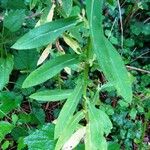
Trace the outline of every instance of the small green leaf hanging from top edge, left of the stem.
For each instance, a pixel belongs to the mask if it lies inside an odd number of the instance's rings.
[[[64,17],[69,17],[72,11],[72,0],[63,0],[59,2],[60,8],[59,11]]]

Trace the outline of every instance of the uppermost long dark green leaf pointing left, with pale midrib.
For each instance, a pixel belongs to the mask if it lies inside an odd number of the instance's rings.
[[[77,17],[70,17],[46,23],[26,33],[12,48],[33,49],[53,43],[63,32],[75,27],[78,22]]]

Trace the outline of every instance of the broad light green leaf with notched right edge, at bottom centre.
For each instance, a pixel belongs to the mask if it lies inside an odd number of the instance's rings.
[[[89,123],[86,127],[85,150],[107,150],[104,132],[110,132],[112,126],[107,115],[96,109],[93,104],[88,102]],[[103,116],[104,115],[104,116]],[[107,128],[106,128],[107,126]],[[109,127],[108,127],[109,126]]]

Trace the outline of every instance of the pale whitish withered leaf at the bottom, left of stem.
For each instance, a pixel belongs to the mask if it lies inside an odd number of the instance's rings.
[[[78,129],[71,137],[70,139],[64,144],[62,150],[72,150],[74,149],[81,141],[81,139],[84,137],[86,132],[86,128],[82,127]]]

